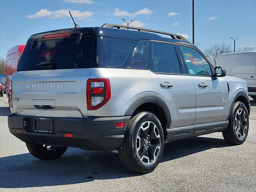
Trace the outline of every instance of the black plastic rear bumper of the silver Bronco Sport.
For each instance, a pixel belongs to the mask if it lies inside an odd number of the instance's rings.
[[[124,139],[124,132],[130,116],[106,118],[52,118],[52,133],[34,132],[35,116],[8,116],[10,133],[27,143],[48,144],[86,148],[90,150],[113,151]],[[26,126],[24,126],[24,121]],[[124,127],[116,128],[117,122],[124,122]],[[16,130],[22,130],[17,133]],[[72,138],[64,134],[72,134]]]

